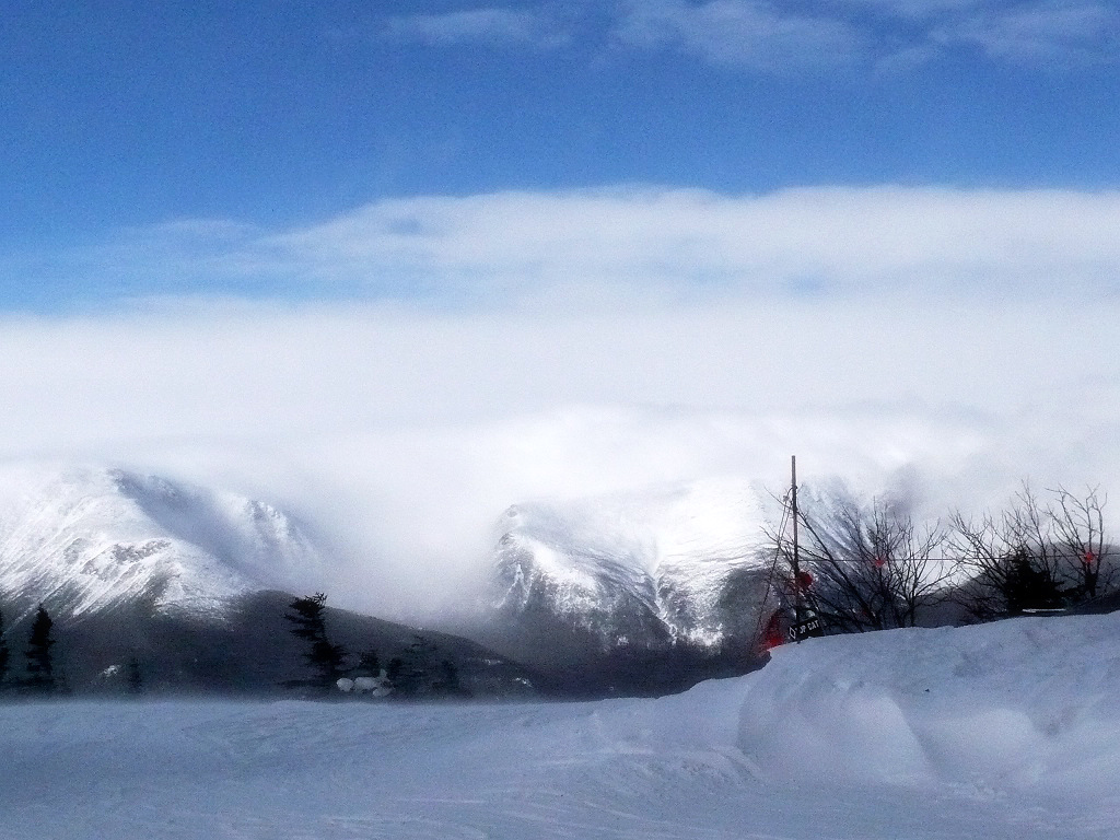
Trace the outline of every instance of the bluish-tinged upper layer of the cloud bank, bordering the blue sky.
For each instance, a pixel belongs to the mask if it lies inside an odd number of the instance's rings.
[[[0,270],[97,297],[433,307],[740,297],[1116,298],[1120,194],[907,187],[731,196],[615,188],[385,199],[319,224],[133,230]]]

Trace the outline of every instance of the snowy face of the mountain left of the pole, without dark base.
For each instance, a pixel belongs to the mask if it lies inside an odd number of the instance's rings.
[[[746,642],[766,571],[763,498],[726,479],[515,505],[495,548],[497,612],[522,636],[567,626],[603,652]]]

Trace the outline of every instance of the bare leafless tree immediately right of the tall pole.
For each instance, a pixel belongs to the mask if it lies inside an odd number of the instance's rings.
[[[940,557],[940,524],[920,526],[902,504],[862,503],[843,488],[803,498],[802,578],[785,576],[785,600],[800,597],[828,633],[914,626],[943,599],[951,569]],[[788,541],[771,539],[792,566]]]

